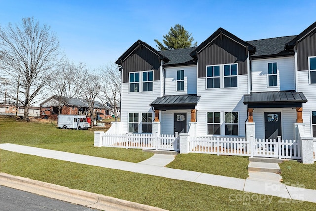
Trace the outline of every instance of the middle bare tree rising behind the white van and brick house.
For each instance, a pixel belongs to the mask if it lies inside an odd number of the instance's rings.
[[[78,96],[80,87],[77,85],[80,80],[81,63],[77,67],[63,57],[53,71],[53,78],[49,83],[51,93],[58,100],[58,114],[61,114],[62,101],[64,97],[73,98]]]

